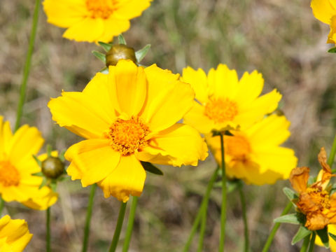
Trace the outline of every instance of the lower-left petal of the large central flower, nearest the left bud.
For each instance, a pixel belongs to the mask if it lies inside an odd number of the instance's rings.
[[[66,172],[72,179],[81,179],[83,186],[105,179],[120,160],[120,153],[113,151],[107,139],[80,141],[71,146],[64,156],[71,162]]]

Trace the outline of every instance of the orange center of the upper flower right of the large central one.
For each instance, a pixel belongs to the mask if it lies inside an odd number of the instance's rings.
[[[236,102],[230,99],[211,99],[205,105],[204,115],[214,120],[215,123],[223,123],[235,118],[238,114],[238,106]]]

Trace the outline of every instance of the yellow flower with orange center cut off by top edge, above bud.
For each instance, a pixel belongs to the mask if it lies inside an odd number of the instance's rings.
[[[67,28],[64,38],[110,42],[130,28],[151,0],[45,0],[48,22]]]

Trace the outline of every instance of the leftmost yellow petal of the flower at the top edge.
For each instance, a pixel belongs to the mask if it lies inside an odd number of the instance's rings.
[[[88,14],[83,0],[45,0],[43,8],[48,22],[64,28],[82,21]]]

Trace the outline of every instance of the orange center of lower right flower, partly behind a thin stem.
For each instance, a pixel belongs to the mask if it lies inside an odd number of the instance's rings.
[[[225,154],[230,155],[232,160],[246,161],[251,153],[251,146],[243,136],[225,136]]]

